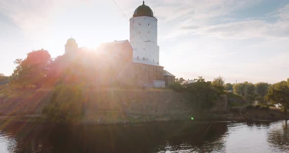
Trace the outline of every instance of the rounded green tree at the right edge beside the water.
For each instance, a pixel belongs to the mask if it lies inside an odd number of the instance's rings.
[[[268,102],[278,104],[284,113],[289,110],[289,80],[281,81],[271,85],[268,94],[265,96]],[[287,119],[286,119],[287,121]]]

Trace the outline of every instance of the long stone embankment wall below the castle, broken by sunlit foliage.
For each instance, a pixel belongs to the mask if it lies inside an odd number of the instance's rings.
[[[18,98],[0,98],[0,114],[41,114],[48,104],[52,90],[42,90]],[[184,93],[160,89],[84,89],[83,101],[88,113],[120,111],[140,115],[182,115],[192,113]],[[226,111],[226,97],[216,101],[210,111]]]

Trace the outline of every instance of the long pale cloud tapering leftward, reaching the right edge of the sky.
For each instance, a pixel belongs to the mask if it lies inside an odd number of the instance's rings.
[[[262,20],[249,20],[201,27],[192,29],[191,32],[221,39],[275,39],[288,38],[289,29],[287,27],[289,27],[288,21],[270,24]]]

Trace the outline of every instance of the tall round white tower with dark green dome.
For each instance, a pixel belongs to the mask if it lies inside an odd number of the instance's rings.
[[[134,62],[159,65],[158,20],[145,1],[134,11],[129,22]]]

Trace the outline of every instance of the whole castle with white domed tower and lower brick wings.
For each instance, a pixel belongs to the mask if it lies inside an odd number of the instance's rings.
[[[126,61],[121,65],[114,64],[110,69],[117,69],[118,79],[109,82],[118,82],[128,86],[147,86],[147,87],[165,87],[175,81],[175,76],[164,70],[160,65],[159,46],[157,44],[157,18],[149,6],[145,5],[145,1],[140,5],[133,14],[130,21],[130,42],[128,40],[114,41],[101,44],[96,51],[101,52],[102,57],[116,59],[112,61]],[[67,40],[65,45],[65,54],[76,54],[76,51],[84,51],[86,49],[78,48],[73,38]],[[103,56],[105,55],[105,56]],[[102,57],[96,57],[101,59]],[[104,60],[106,64],[111,64],[109,60]],[[105,65],[99,64],[98,65]],[[100,69],[99,69],[100,70]],[[107,70],[103,72],[113,74]],[[104,73],[101,73],[104,74]],[[117,75],[117,74],[115,74]],[[99,78],[97,82],[112,76]],[[113,79],[111,79],[113,80]]]

